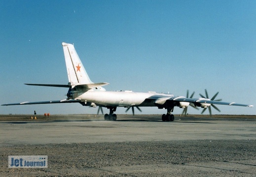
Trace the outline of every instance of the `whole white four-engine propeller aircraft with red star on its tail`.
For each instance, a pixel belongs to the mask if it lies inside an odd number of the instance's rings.
[[[110,114],[105,114],[105,120],[116,120],[117,107],[132,108],[134,113],[134,107],[157,107],[158,109],[166,109],[167,114],[162,115],[163,121],[173,121],[174,115],[172,114],[174,107],[184,108],[183,113],[186,113],[186,109],[189,105],[193,107],[204,108],[203,112],[209,108],[211,114],[211,106],[216,109],[214,104],[229,105],[229,106],[244,106],[253,107],[253,105],[238,104],[234,102],[220,102],[215,100],[217,94],[212,98],[201,95],[201,98],[192,98],[193,94],[187,96],[174,96],[173,94],[156,93],[156,92],[133,92],[133,91],[106,91],[102,86],[108,85],[108,83],[93,83],[85,68],[79,59],[74,46],[72,44],[62,43],[64,56],[67,66],[69,83],[68,85],[55,85],[55,84],[26,84],[30,86],[46,86],[46,87],[64,87],[69,88],[67,93],[67,99],[57,101],[40,101],[40,102],[22,102],[3,104],[1,106],[9,105],[29,105],[29,104],[52,104],[52,103],[80,103],[83,106],[97,107],[100,109],[106,107],[110,110]],[[128,110],[127,109],[127,110]],[[140,110],[140,109],[139,109]],[[219,111],[219,109],[217,108]],[[140,110],[141,111],[141,110]]]

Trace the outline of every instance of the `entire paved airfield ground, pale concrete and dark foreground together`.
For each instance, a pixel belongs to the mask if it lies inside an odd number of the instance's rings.
[[[162,122],[160,115],[118,115],[117,121],[81,115],[24,117],[0,121],[0,176],[256,174],[256,118],[176,116]],[[48,155],[47,169],[7,168],[8,155],[36,154]],[[67,158],[71,160],[65,162]]]

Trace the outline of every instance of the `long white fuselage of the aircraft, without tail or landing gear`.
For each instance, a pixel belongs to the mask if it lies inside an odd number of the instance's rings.
[[[173,96],[173,94],[155,92],[132,91],[94,91],[89,90],[76,99],[92,102],[100,106],[130,107],[130,106],[155,106],[154,102],[145,101],[153,95]]]

